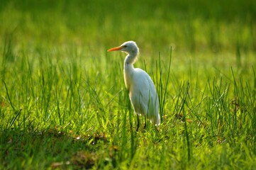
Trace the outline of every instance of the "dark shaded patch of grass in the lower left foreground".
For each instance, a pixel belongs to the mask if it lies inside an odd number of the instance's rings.
[[[104,134],[78,136],[57,128],[41,132],[6,130],[1,134],[0,161],[8,169],[113,167],[118,147],[106,147],[107,143]]]

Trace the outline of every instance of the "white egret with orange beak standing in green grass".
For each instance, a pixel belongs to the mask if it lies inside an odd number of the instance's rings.
[[[143,69],[133,67],[139,54],[139,48],[136,42],[124,42],[121,46],[109,49],[108,52],[116,50],[128,54],[124,60],[123,77],[126,89],[129,91],[130,101],[137,115],[137,131],[140,126],[138,115],[144,115],[145,118],[148,118],[150,122],[158,128],[160,125],[160,115],[155,85],[150,76]]]

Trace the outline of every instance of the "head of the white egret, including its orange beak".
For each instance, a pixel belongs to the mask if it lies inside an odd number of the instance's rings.
[[[138,55],[138,52],[139,52],[139,48],[136,45],[136,42],[134,42],[134,41],[123,42],[122,45],[120,45],[118,47],[113,47],[113,48],[109,49],[108,51],[116,51],[116,50],[120,50],[121,52],[126,52],[130,55],[131,54]]]

